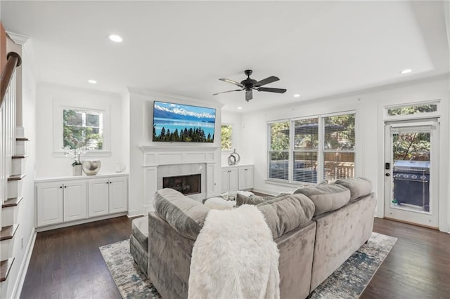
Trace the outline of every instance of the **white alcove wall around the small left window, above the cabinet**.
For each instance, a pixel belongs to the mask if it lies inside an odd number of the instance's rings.
[[[117,163],[127,164],[127,161],[124,161],[124,145],[127,145],[124,128],[127,128],[128,125],[124,122],[120,95],[42,83],[37,89],[37,178],[72,175],[72,160],[64,157],[61,152],[54,152],[53,148],[55,117],[53,106],[56,102],[70,107],[109,110],[110,153],[103,155],[88,153],[82,157],[82,160],[99,159],[101,161],[100,173],[115,172]],[[59,150],[59,147],[56,148]]]

